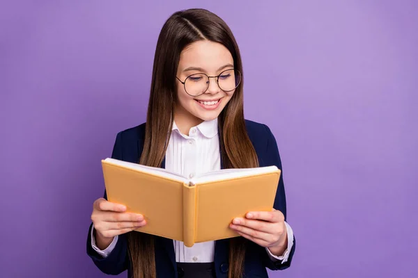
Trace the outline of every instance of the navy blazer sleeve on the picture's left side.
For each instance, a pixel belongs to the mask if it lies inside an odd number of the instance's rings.
[[[111,154],[111,158],[123,160],[122,157],[122,133],[118,133],[116,136],[116,141],[114,143],[114,148]],[[106,190],[104,190],[104,199],[107,199]],[[118,236],[118,241],[114,250],[110,252],[110,254],[103,258],[95,252],[93,247],[91,246],[91,229],[93,227],[93,223],[90,225],[88,229],[88,236],[87,236],[87,254],[93,260],[93,263],[105,274],[107,275],[118,275],[121,272],[127,270],[128,260],[129,257],[127,255],[127,238],[126,234],[122,234]]]

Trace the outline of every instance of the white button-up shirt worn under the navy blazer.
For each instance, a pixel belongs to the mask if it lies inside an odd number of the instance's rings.
[[[184,135],[173,123],[173,129],[167,146],[165,168],[171,172],[182,174],[192,178],[221,168],[221,157],[219,152],[219,138],[217,136],[217,119],[202,122],[189,130],[189,136]],[[272,261],[281,260],[285,263],[288,260],[289,252],[293,247],[293,231],[285,222],[288,234],[288,248],[282,256],[274,256],[266,248],[266,252]],[[105,250],[100,250],[95,245],[93,229],[91,229],[91,244],[93,249],[103,257],[114,250],[118,236],[115,236],[112,243]],[[210,263],[214,261],[215,241],[195,243],[192,247],[186,247],[183,242],[173,240],[176,262],[178,263]]]

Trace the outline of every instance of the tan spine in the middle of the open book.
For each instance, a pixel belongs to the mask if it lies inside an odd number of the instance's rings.
[[[196,219],[196,186],[183,186],[183,243],[187,247],[194,245]]]

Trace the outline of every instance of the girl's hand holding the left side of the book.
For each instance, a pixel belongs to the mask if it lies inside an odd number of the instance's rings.
[[[100,249],[105,249],[115,236],[144,227],[143,215],[125,213],[126,206],[107,201],[104,198],[95,200],[91,220],[96,232],[96,241]],[[99,246],[102,245],[102,246]],[[104,247],[104,248],[102,248]]]

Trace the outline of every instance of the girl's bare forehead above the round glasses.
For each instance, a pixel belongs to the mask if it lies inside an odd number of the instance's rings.
[[[183,49],[178,67],[179,70],[186,67],[201,67],[210,72],[228,63],[233,65],[233,58],[226,47],[218,42],[199,40]]]

